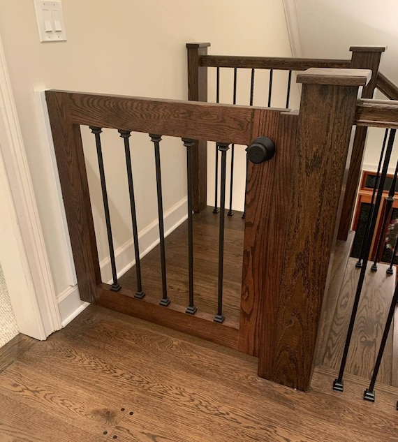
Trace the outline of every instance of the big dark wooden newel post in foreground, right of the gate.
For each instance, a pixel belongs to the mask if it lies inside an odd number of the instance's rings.
[[[370,75],[326,68],[297,75],[302,98],[285,251],[274,294],[279,307],[263,309],[258,375],[299,390],[308,390],[311,381],[356,101]]]

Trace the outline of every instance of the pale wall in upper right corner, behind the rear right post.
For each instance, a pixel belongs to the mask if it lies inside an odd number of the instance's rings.
[[[350,46],[387,45],[381,72],[398,84],[396,0],[297,0],[303,57],[351,57]],[[384,98],[380,95],[379,98]],[[383,130],[369,130],[364,168],[377,167]],[[394,170],[398,147],[391,161]]]

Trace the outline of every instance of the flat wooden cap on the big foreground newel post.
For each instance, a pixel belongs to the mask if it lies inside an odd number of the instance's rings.
[[[370,79],[369,69],[309,68],[297,75],[297,83],[334,86],[366,86]]]

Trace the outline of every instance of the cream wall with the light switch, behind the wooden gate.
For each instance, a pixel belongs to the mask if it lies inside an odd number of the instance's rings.
[[[6,52],[24,145],[50,258],[61,318],[80,304],[68,255],[57,179],[43,136],[34,89],[68,89],[110,94],[186,99],[186,48],[189,41],[209,41],[216,54],[291,55],[282,0],[64,0],[68,40],[40,43],[32,0],[0,2],[0,35]],[[255,102],[255,104],[258,104]],[[274,104],[274,103],[273,103]],[[278,105],[275,103],[275,105]],[[107,256],[101,226],[94,143],[84,131],[87,172],[101,260]],[[140,230],[156,219],[153,150],[145,135],[131,140]],[[131,238],[121,140],[105,133],[110,206],[115,246]],[[111,150],[112,149],[112,152]],[[185,196],[184,150],[165,140],[165,209]],[[94,190],[95,189],[95,190]],[[175,219],[170,217],[170,223]],[[153,223],[152,223],[153,226]],[[66,297],[72,304],[63,307]]]

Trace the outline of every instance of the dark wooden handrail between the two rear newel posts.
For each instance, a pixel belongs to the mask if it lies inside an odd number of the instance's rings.
[[[200,66],[219,68],[279,69],[305,71],[308,68],[349,68],[350,60],[295,59],[284,57],[239,57],[228,55],[205,55]]]

